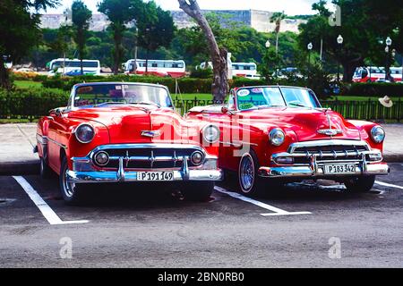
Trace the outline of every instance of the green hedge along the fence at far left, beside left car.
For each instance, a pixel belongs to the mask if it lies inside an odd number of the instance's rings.
[[[65,106],[69,93],[46,88],[21,88],[12,91],[0,89],[0,118],[33,120],[49,110]]]

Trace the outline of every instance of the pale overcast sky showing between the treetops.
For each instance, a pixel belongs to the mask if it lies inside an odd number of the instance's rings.
[[[83,0],[94,13],[97,12],[99,0]],[[155,0],[165,10],[179,10],[176,0]],[[270,12],[285,11],[288,15],[311,14],[312,4],[317,0],[198,0],[201,9],[211,10],[266,10]],[[73,0],[61,0],[62,5],[57,9],[47,10],[47,13],[63,13],[65,7],[72,5]]]

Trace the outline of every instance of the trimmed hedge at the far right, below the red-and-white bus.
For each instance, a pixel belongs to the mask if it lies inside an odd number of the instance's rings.
[[[402,83],[368,82],[353,83],[343,88],[343,96],[361,97],[402,97]]]

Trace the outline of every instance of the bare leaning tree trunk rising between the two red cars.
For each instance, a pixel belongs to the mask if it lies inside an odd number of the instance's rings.
[[[228,72],[227,72],[227,50],[219,48],[217,40],[210,28],[209,22],[201,13],[201,9],[196,0],[178,0],[179,6],[184,13],[192,17],[201,27],[209,44],[210,57],[213,63],[213,101],[217,104],[223,103],[227,97],[228,91]]]

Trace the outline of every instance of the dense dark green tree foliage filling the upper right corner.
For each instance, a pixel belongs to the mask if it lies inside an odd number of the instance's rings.
[[[330,11],[326,8],[326,1],[321,0],[313,4],[318,14],[300,26],[299,46],[304,51],[306,45],[312,42],[313,48],[318,51],[322,39],[326,56],[343,66],[344,80],[350,81],[356,66],[368,63],[370,58],[372,64],[384,65],[384,39],[387,36],[395,39],[393,46],[402,50],[403,12],[399,2],[333,0],[332,3],[340,6],[341,26],[330,27]],[[344,38],[342,46],[337,42],[339,35]]]

